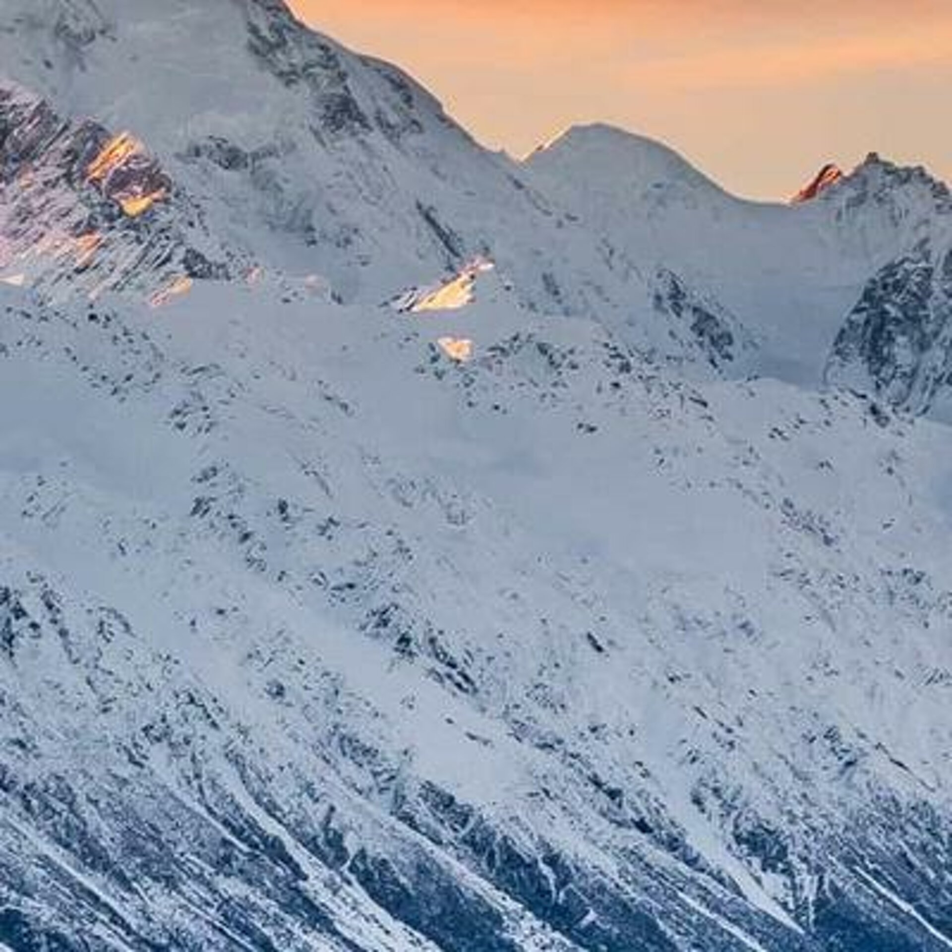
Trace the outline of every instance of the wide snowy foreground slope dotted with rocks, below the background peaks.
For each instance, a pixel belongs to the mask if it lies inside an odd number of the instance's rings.
[[[4,294],[14,947],[942,947],[865,879],[948,933],[942,426],[499,306]]]

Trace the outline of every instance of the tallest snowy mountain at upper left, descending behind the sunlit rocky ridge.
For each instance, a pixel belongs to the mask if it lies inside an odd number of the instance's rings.
[[[424,89],[303,30],[281,2],[5,0],[4,15],[4,71],[66,116],[143,139],[262,267],[377,303],[483,255],[536,307],[585,311],[602,285],[645,298]]]

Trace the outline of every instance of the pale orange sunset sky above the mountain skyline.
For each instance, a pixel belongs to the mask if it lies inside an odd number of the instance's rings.
[[[952,0],[292,0],[486,145],[601,120],[786,197],[876,149],[952,181]]]

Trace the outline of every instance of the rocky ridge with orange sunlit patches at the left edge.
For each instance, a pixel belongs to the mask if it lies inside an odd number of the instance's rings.
[[[201,212],[128,132],[70,123],[27,90],[0,85],[0,169],[8,283],[96,297],[229,276]]]

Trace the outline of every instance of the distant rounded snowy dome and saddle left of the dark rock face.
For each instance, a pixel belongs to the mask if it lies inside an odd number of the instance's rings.
[[[678,270],[733,313],[758,345],[738,370],[808,386],[823,379],[867,284],[923,241],[941,246],[952,228],[948,188],[875,154],[792,207],[739,200],[670,149],[603,126],[570,130],[537,151],[527,172],[611,248],[642,268]],[[941,311],[930,314],[946,323]],[[903,319],[919,327],[922,313]],[[857,369],[868,371],[878,396],[905,399],[875,367]]]

